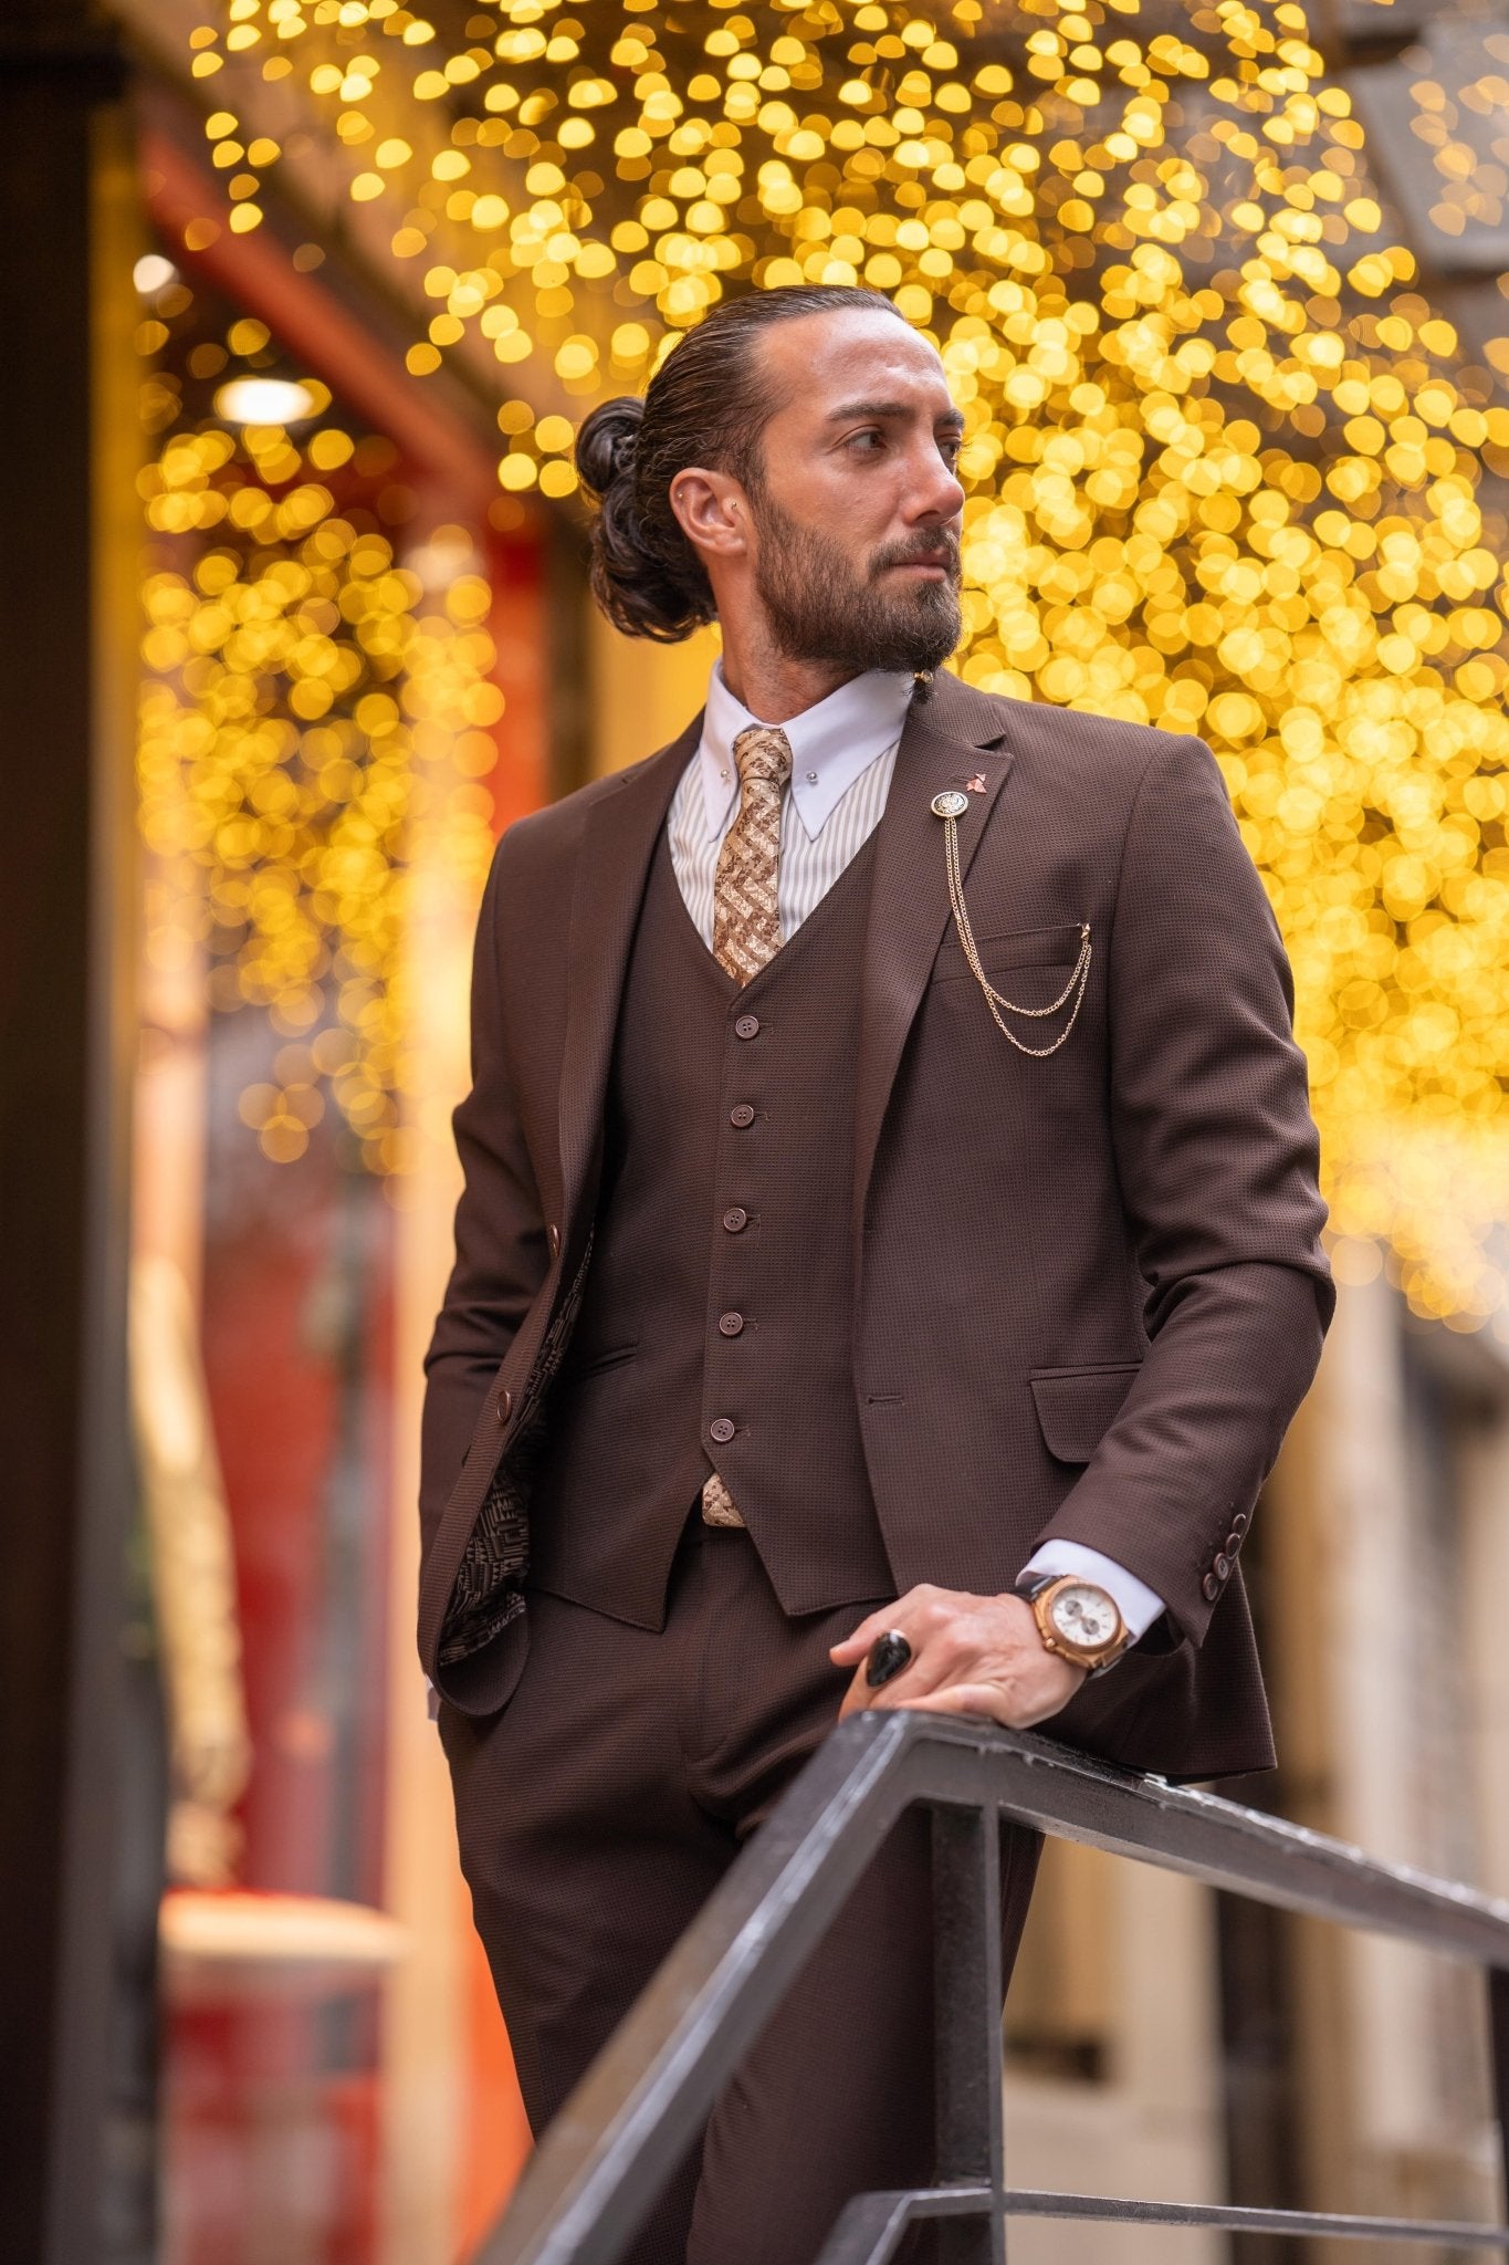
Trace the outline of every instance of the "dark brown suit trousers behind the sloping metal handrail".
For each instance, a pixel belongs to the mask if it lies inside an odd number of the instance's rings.
[[[828,1644],[857,1613],[787,1617],[749,1536],[692,1518],[663,1631],[534,1592],[527,1617],[514,1703],[491,1719],[441,1708],[441,1737],[477,1930],[541,2131],[833,1724],[846,1676]],[[1007,1971],[1036,1857],[1034,1832],[1002,1835]],[[930,1946],[928,1817],[914,1810],[744,2057],[627,2265],[803,2265],[851,2193],[932,2183]]]

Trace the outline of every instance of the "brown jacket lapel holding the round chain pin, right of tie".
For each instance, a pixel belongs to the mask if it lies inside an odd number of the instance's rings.
[[[939,675],[928,700],[914,700],[896,750],[891,793],[876,831],[864,972],[860,985],[860,1062],[855,1076],[855,1277],[864,1246],[864,1203],[880,1126],[896,1083],[912,1017],[932,974],[950,920],[943,865],[943,820],[930,804],[946,786],[968,788],[959,818],[959,865],[968,874],[1011,754],[993,745],[1007,725],[1004,702]]]

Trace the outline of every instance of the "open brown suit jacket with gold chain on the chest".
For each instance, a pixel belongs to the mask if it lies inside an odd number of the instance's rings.
[[[509,829],[473,988],[466,1189],[428,1354],[421,1656],[491,1712],[527,1617],[457,1665],[441,1635],[493,1472],[550,1422],[638,904],[699,738]],[[995,1031],[952,931],[930,802],[959,820],[991,981],[1090,978],[1047,1060]],[[1271,1760],[1238,1554],[1330,1318],[1290,969],[1195,738],[977,693],[912,704],[880,822],[853,1117],[853,1388],[898,1590],[995,1592],[1050,1538],[1167,1604],[1054,1730],[1170,1776]],[[1018,1022],[1027,1044],[1063,1017]],[[844,1137],[844,1128],[837,1128]],[[552,1330],[554,1323],[554,1330]]]

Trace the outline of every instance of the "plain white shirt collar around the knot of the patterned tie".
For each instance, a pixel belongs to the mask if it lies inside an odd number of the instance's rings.
[[[808,840],[817,840],[855,779],[900,738],[912,682],[909,673],[871,668],[781,725],[792,745],[792,802]],[[724,684],[724,664],[715,661],[697,750],[708,840],[724,834],[738,802],[733,741],[758,720],[733,698]]]

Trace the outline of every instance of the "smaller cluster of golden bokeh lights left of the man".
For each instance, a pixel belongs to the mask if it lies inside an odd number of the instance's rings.
[[[267,340],[238,331],[242,351]],[[423,1114],[405,1044],[409,843],[423,824],[473,892],[491,854],[491,589],[459,573],[428,596],[387,535],[335,507],[319,473],[353,455],[335,421],[299,444],[281,426],[183,428],[158,371],[149,421],[163,401],[172,424],[140,489],[152,532],[192,544],[192,564],[158,559],[143,587],[147,951],[179,954],[197,929],[210,1006],[260,1008],[283,1037],[276,1080],[240,1103],[265,1155],[303,1155],[330,1094],[355,1157],[398,1173]]]

